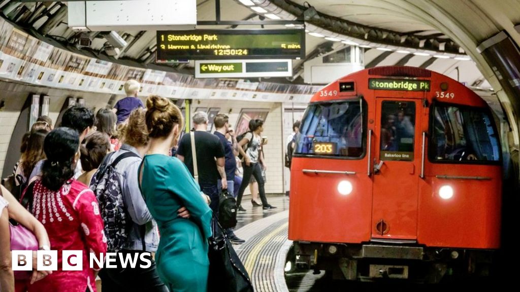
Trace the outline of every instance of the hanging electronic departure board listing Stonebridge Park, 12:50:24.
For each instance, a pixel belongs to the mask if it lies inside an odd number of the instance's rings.
[[[299,59],[303,29],[158,31],[157,61],[190,59]]]

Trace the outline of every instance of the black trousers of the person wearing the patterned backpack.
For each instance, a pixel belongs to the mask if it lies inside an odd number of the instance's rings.
[[[101,290],[103,292],[168,292],[168,288],[159,278],[157,269],[155,268],[155,261],[150,258],[152,265],[149,268],[142,269],[139,266],[141,264],[146,265],[147,262],[142,262],[139,255],[144,251],[140,250],[122,250],[119,253],[123,254],[123,258],[127,254],[137,254],[137,264],[135,269],[126,266],[126,269],[121,267],[121,262],[116,261],[117,268],[114,269],[102,269],[99,272],[101,278]],[[118,255],[119,259],[119,255]]]

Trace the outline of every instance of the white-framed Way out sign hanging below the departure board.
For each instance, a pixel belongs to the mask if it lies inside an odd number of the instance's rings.
[[[196,78],[290,76],[292,76],[292,60],[195,61]]]

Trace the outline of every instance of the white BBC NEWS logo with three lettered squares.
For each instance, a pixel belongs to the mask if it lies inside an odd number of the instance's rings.
[[[12,270],[13,271],[32,271],[33,257],[32,250],[12,250]],[[62,270],[63,271],[82,271],[83,270],[83,250],[63,250],[61,253]],[[114,269],[117,268],[117,262],[123,269],[137,267],[140,260],[139,268],[147,269],[152,266],[151,253],[106,253],[97,256],[89,253],[90,269]],[[57,271],[58,270],[58,251],[57,250],[38,250],[36,252],[36,270],[38,271]]]

